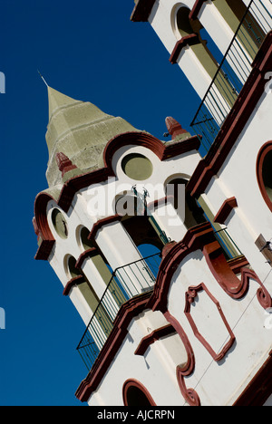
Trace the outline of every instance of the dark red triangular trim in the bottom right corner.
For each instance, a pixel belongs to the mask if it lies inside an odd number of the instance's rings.
[[[272,394],[272,351],[233,406],[263,406]]]

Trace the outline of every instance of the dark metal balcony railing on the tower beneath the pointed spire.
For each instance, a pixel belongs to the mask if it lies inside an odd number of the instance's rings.
[[[151,255],[121,266],[112,273],[111,281],[77,346],[89,371],[112,332],[121,305],[135,295],[153,290],[160,261],[160,254]]]

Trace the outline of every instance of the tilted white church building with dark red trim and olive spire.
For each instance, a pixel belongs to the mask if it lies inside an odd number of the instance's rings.
[[[158,140],[48,87],[35,259],[86,325],[75,396],[272,406],[271,0],[136,0],[131,21],[199,104]]]

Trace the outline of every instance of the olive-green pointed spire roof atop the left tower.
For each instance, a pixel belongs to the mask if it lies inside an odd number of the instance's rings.
[[[47,90],[49,123],[45,139],[49,187],[63,183],[72,173],[102,168],[102,153],[108,141],[123,132],[136,131],[126,120],[104,113],[89,101],[74,100],[49,86]]]

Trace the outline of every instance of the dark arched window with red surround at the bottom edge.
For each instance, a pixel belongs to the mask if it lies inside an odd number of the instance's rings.
[[[140,381],[128,380],[122,388],[124,406],[157,406]]]

